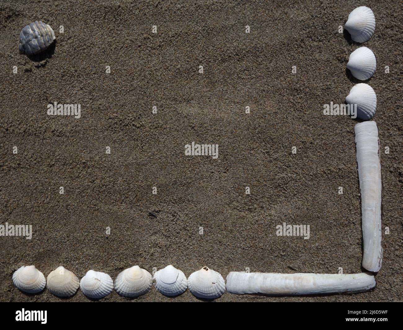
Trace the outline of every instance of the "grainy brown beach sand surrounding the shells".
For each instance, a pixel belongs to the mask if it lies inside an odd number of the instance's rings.
[[[89,301],[81,291],[69,299],[20,292],[12,273],[31,264],[45,276],[63,265],[80,278],[89,269],[115,278],[135,264],[173,264],[187,276],[209,266],[224,278],[245,267],[361,272],[358,121],[322,114],[360,82],[346,73],[360,45],[337,30],[361,5],[376,16],[363,46],[378,62],[368,83],[378,97],[382,226],[390,228],[377,287],[314,297],[224,293],[216,301],[403,300],[401,1],[6,0],[0,224],[31,224],[33,237],[0,237],[0,301]],[[18,52],[21,28],[35,20],[57,38],[39,61]],[[81,104],[81,118],[48,116],[53,102]],[[192,141],[219,144],[219,158],[185,156]],[[283,222],[309,224],[310,239],[277,237]],[[128,299],[114,291],[102,301]],[[152,288],[133,301],[199,300]]]

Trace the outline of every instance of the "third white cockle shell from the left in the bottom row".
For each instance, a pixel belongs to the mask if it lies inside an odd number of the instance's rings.
[[[89,270],[80,281],[80,288],[89,298],[102,298],[113,291],[113,281],[108,274]]]

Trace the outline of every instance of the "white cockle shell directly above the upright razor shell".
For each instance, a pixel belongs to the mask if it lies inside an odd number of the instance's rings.
[[[371,119],[376,111],[376,93],[370,85],[359,83],[350,89],[346,103],[357,105],[358,118]]]

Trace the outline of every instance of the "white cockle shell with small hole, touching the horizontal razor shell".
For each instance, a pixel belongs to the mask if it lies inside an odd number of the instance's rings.
[[[208,267],[190,274],[187,284],[190,292],[198,298],[218,298],[225,292],[224,278]]]

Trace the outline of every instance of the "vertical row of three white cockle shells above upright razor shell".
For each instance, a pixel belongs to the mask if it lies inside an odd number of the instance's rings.
[[[366,42],[374,34],[375,15],[368,7],[355,8],[350,12],[344,27],[353,41]],[[367,47],[357,48],[350,54],[347,68],[359,80],[370,79],[376,70],[376,57]],[[370,85],[359,83],[351,88],[346,104],[357,104],[357,118],[371,119],[376,111],[376,93]]]

